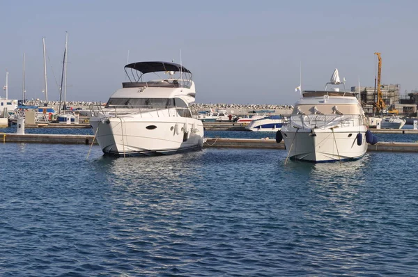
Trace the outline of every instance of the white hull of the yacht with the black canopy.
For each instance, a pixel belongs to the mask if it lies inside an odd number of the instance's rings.
[[[203,146],[203,124],[194,118],[93,117],[91,126],[109,155],[169,155]]]

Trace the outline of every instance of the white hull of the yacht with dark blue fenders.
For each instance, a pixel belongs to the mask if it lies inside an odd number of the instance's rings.
[[[304,161],[339,161],[359,159],[367,150],[366,126],[332,129],[281,129],[288,157]],[[362,134],[362,144],[357,145],[357,134]]]

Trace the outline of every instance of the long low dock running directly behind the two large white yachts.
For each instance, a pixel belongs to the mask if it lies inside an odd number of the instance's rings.
[[[405,130],[417,131],[417,130]],[[0,133],[0,142],[3,143],[61,143],[84,144],[93,143],[93,135],[72,134],[9,134]],[[97,141],[94,141],[98,145]],[[225,139],[208,138],[203,148],[258,148],[284,150],[284,143],[276,143],[275,139]],[[392,152],[418,152],[418,143],[404,142],[379,142],[369,145],[367,151],[392,151]]]

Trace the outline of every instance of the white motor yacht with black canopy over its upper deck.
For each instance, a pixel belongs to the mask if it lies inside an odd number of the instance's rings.
[[[196,95],[192,72],[160,61],[130,63],[125,72],[130,81],[107,105],[91,106],[91,126],[104,154],[168,155],[203,146],[203,123],[189,109]],[[148,73],[168,77],[146,81]]]

